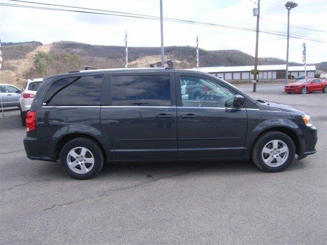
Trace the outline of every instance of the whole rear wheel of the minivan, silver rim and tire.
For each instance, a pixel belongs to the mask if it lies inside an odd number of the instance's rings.
[[[69,176],[85,180],[100,172],[104,158],[96,142],[87,138],[76,138],[63,146],[60,161]]]

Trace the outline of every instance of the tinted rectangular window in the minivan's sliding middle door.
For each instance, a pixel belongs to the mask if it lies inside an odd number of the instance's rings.
[[[170,106],[170,76],[112,77],[113,106]]]

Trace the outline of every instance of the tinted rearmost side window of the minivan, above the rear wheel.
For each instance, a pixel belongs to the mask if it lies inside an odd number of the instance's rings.
[[[49,106],[100,106],[102,77],[60,79],[51,85],[43,103]]]

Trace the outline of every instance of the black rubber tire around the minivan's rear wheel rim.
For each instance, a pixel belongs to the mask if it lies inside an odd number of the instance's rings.
[[[67,163],[68,153],[74,148],[78,148],[78,147],[83,147],[88,149],[94,156],[94,166],[85,174],[75,173],[75,171],[69,168]],[[86,179],[93,178],[97,174],[99,174],[103,166],[104,157],[100,146],[96,142],[87,138],[76,138],[76,139],[72,139],[71,141],[69,141],[63,146],[60,152],[60,161],[61,161],[61,166],[69,176],[73,177],[74,179],[86,180]]]

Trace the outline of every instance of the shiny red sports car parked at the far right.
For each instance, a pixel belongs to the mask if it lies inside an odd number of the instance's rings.
[[[327,81],[319,78],[302,79],[296,83],[290,83],[284,87],[286,93],[312,93],[315,91],[327,92]]]

